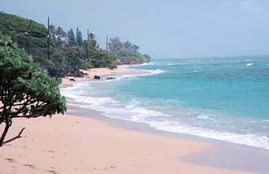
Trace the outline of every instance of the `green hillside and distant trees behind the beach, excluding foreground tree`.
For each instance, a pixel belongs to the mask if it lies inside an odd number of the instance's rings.
[[[121,64],[139,64],[150,61],[150,56],[138,52],[139,47],[130,41],[121,42],[119,37],[110,39],[109,50],[102,50],[96,36],[90,33],[83,40],[77,28],[65,32],[50,25],[50,52],[48,58],[48,33],[45,25],[12,14],[0,12],[0,32],[12,38],[21,48],[32,55],[34,63],[46,69],[50,76],[59,70],[89,69],[92,67],[117,68]],[[60,71],[61,72],[61,71]]]

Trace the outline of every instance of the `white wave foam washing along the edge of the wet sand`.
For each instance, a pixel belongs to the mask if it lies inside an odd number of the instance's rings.
[[[162,71],[155,69],[151,72],[153,74],[159,74]],[[74,86],[72,87],[61,88],[61,93],[67,97],[74,98],[74,100],[81,103],[81,105],[76,104],[79,105],[79,107],[101,111],[105,116],[111,118],[143,122],[158,130],[186,133],[189,135],[197,135],[203,138],[235,142],[269,150],[269,138],[266,135],[261,135],[258,133],[235,133],[230,131],[230,129],[228,131],[223,131],[223,129],[221,131],[217,131],[210,128],[201,127],[197,119],[195,120],[195,122],[197,122],[197,126],[193,126],[187,122],[172,120],[173,116],[162,113],[161,111],[139,107],[140,103],[138,100],[130,100],[128,103],[120,103],[109,96],[88,96],[89,91],[94,94],[91,83],[93,82],[74,83]],[[217,119],[215,115],[208,112],[203,113],[201,111],[190,111],[190,109],[184,110],[184,108],[182,111],[185,112],[185,115],[180,113],[180,115],[183,117],[195,115],[195,118],[198,118],[201,120],[201,122],[212,122],[216,121]],[[168,119],[168,117],[172,118]],[[269,120],[265,120],[265,122],[268,121]]]

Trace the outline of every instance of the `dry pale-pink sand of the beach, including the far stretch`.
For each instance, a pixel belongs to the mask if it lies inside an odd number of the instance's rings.
[[[75,80],[132,71],[121,67],[90,69],[88,76]],[[63,79],[63,85],[76,82]],[[14,120],[6,140],[26,129],[21,138],[0,148],[0,173],[246,173],[183,160],[210,151],[213,144],[119,129],[92,119],[94,112],[83,117],[72,115],[79,113],[76,109],[69,109],[64,116]]]

